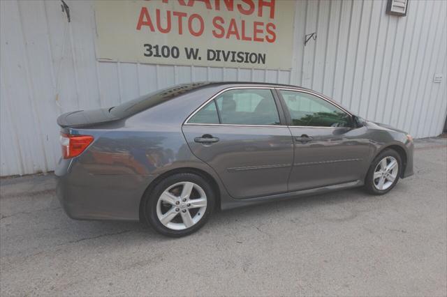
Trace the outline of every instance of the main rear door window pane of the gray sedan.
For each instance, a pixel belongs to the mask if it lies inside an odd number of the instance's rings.
[[[223,124],[281,124],[270,89],[235,89],[221,93],[215,100]]]

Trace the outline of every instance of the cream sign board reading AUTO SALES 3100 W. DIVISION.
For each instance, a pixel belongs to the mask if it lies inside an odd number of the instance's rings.
[[[295,1],[95,1],[100,61],[291,69]]]

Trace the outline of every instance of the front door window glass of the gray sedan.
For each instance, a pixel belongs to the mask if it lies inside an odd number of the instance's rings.
[[[351,116],[330,102],[308,93],[281,90],[292,125],[350,127]]]

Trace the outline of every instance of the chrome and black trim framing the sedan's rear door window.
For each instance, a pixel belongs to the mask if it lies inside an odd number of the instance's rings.
[[[224,124],[224,123],[189,123],[189,120],[198,112],[200,112],[201,109],[203,109],[209,102],[211,102],[212,100],[214,100],[215,98],[217,98],[219,95],[221,95],[221,93],[224,93],[226,91],[230,91],[230,90],[244,90],[244,89],[268,89],[270,90],[270,92],[272,92],[272,98],[274,100],[274,105],[277,107],[277,112],[278,112],[278,117],[279,117],[279,121],[281,123],[281,125],[249,125],[249,124]],[[192,114],[190,114],[186,120],[183,122],[183,125],[222,125],[222,126],[235,126],[235,127],[287,127],[287,125],[282,125],[283,123],[283,119],[284,116],[282,116],[284,114],[284,108],[282,107],[281,99],[279,99],[279,97],[275,97],[275,89],[272,86],[230,86],[228,88],[225,88],[219,92],[217,92],[214,96],[212,96],[210,99],[206,100],[202,105],[200,105]],[[217,102],[214,101],[216,104],[216,108],[217,108]],[[279,106],[278,106],[279,105]],[[281,114],[282,112],[282,114]],[[219,122],[221,121],[220,119],[220,114],[219,114],[219,109],[217,108],[217,114],[219,116]]]

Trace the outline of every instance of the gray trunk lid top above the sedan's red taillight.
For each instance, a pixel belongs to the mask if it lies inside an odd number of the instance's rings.
[[[110,121],[117,121],[120,118],[109,112],[110,108],[78,110],[67,112],[57,118],[57,124],[61,128],[85,128],[91,125],[98,125]]]

